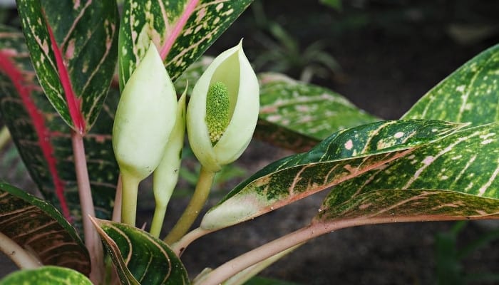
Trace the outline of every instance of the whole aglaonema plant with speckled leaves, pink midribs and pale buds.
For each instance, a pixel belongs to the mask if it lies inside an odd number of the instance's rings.
[[[0,284],[243,284],[336,229],[498,218],[499,46],[384,121],[325,88],[256,76],[242,42],[197,61],[250,3],[125,1],[119,16],[115,1],[17,1],[24,34],[0,27],[0,111],[43,199],[0,183],[0,249],[23,269]],[[185,133],[200,175],[161,237]],[[253,137],[299,153],[192,229]],[[149,175],[146,232],[135,217]],[[328,189],[306,227],[197,276],[183,266],[197,238]]]

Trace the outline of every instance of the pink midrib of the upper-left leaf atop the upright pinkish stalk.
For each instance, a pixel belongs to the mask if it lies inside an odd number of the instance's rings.
[[[73,86],[71,85],[71,79],[69,78],[68,69],[66,68],[66,64],[64,63],[61,48],[59,48],[57,45],[56,38],[55,36],[53,36],[53,31],[50,24],[48,24],[47,20],[45,22],[48,36],[50,37],[51,41],[53,56],[56,58],[57,73],[64,90],[66,103],[68,103],[69,115],[71,116],[71,120],[73,121],[73,126],[76,128],[78,133],[83,135],[83,133],[85,133],[85,120],[83,118],[83,114],[81,113],[81,99],[77,98],[76,93],[74,93]]]

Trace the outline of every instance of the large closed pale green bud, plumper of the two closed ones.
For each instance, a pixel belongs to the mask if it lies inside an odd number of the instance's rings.
[[[177,97],[154,44],[125,85],[113,125],[120,171],[143,180],[158,167],[175,125]]]

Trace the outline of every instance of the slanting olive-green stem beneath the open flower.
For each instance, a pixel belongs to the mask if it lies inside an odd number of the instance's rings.
[[[187,205],[187,208],[185,208],[182,216],[178,219],[177,224],[175,224],[175,227],[173,227],[170,234],[165,237],[165,242],[167,244],[177,242],[190,229],[197,218],[197,215],[200,214],[200,211],[205,205],[206,199],[210,194],[213,178],[215,178],[215,172],[205,170],[205,167],[201,167],[200,177],[199,180],[197,180],[196,189],[189,204]]]

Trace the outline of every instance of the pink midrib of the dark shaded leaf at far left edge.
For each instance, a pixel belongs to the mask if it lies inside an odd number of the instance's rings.
[[[38,86],[28,86],[24,83],[23,73],[19,71],[19,69],[16,68],[16,65],[10,60],[10,54],[4,51],[0,51],[0,68],[1,71],[4,72],[14,84],[14,88],[16,88],[19,93],[19,97],[21,97],[24,108],[26,108],[26,112],[33,122],[36,136],[38,138],[38,145],[41,148],[41,152],[48,166],[48,171],[51,174],[56,197],[61,205],[61,210],[64,217],[71,220],[68,203],[66,202],[66,197],[64,197],[64,182],[58,175],[57,161],[54,157],[53,147],[49,139],[50,131],[45,125],[43,115],[40,113],[38,108],[36,108],[35,103],[30,97],[31,90],[38,88]]]

